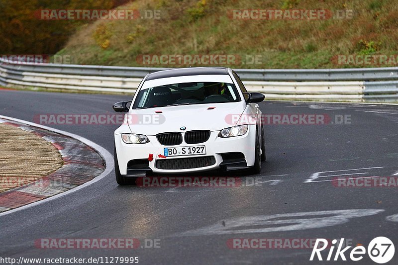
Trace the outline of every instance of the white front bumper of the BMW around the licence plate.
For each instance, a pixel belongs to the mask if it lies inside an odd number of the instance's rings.
[[[194,159],[199,157],[213,157],[215,163],[209,166],[203,166],[198,168],[190,169],[159,169],[157,163],[160,160],[165,160],[165,158],[159,157],[159,155],[164,155],[164,148],[171,146],[161,145],[156,136],[148,136],[149,143],[146,144],[126,144],[122,141],[121,135],[116,134],[115,147],[117,152],[117,159],[120,174],[124,176],[143,176],[147,172],[153,172],[158,174],[181,174],[181,173],[193,173],[202,171],[211,171],[216,169],[228,170],[239,170],[254,165],[255,156],[255,139],[256,139],[256,126],[249,125],[249,129],[245,135],[230,137],[230,138],[220,138],[218,137],[219,131],[213,131],[210,134],[209,139],[200,144],[186,144],[183,142],[180,145],[172,147],[183,147],[183,146],[199,146],[204,145],[206,147],[205,155],[190,155],[190,156],[178,156],[178,157],[168,157],[167,160],[173,159]],[[184,134],[184,133],[183,133]],[[183,135],[184,136],[184,135]],[[183,137],[184,139],[184,137]],[[222,154],[239,152],[243,154],[242,159],[238,160],[223,160]],[[149,161],[148,158],[152,154],[153,159]],[[140,166],[138,168],[132,168],[127,165],[130,161],[141,160],[147,162],[147,167]],[[189,161],[189,160],[185,160]],[[169,163],[169,162],[168,162]],[[130,163],[131,164],[131,163]],[[170,163],[173,164],[173,163]],[[205,165],[205,164],[204,164]]]

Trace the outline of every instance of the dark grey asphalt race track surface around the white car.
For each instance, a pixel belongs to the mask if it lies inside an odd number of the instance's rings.
[[[44,113],[113,114],[114,102],[130,98],[0,90],[0,114],[27,121]],[[335,175],[398,173],[396,105],[263,102],[260,107],[266,114],[327,114],[333,124],[267,125],[267,162],[261,174],[250,176],[260,177],[256,186],[122,187],[112,172],[76,192],[0,216],[0,257],[311,264],[311,249],[230,249],[226,243],[233,238],[345,238],[367,246],[379,236],[398,243],[397,187],[336,187],[330,181]],[[351,122],[336,124],[336,115],[350,115],[346,117]],[[117,125],[47,126],[85,137],[113,153]],[[134,250],[36,248],[35,240],[43,238],[138,238],[161,243],[158,249]],[[396,255],[391,264],[397,261]],[[360,264],[374,263],[365,255]]]

